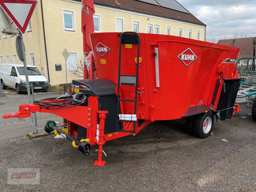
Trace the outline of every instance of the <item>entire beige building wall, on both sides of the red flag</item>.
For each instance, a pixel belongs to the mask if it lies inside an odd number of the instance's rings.
[[[38,1],[36,10],[31,19],[32,31],[26,32],[23,37],[26,48],[27,64],[31,63],[29,53],[34,53],[36,66],[48,79],[40,2],[41,1]],[[63,10],[74,12],[75,31],[67,31],[64,29]],[[77,53],[77,60],[82,60],[83,58],[81,2],[72,0],[44,0],[43,12],[50,84],[63,84],[66,83],[65,58],[62,55],[63,50],[66,48],[70,53]],[[197,31],[200,31],[200,39],[203,41],[205,40],[205,27],[200,25],[99,5],[95,5],[95,15],[100,16],[100,32],[116,31],[116,18],[118,18],[123,19],[124,31],[133,31],[133,21],[138,21],[140,33],[147,33],[147,24],[151,23],[153,24],[153,33],[155,33],[155,25],[160,26],[160,34],[166,34],[166,27],[170,26],[171,35],[178,36],[179,28],[182,28],[183,37],[188,37],[188,30],[192,29],[193,39],[197,39]],[[17,55],[15,48],[16,36],[7,36],[7,39],[4,39],[2,33],[0,36],[0,56],[3,56],[4,63],[6,63],[6,55],[9,55],[10,63],[13,63],[12,55]],[[17,63],[21,63],[18,56]],[[55,64],[61,64],[62,70],[56,71]],[[71,82],[74,78],[77,77],[71,76],[68,72],[68,82]]]

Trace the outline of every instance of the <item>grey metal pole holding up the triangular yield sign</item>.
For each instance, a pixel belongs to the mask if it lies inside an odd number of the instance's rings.
[[[21,51],[21,55],[22,55],[22,61],[24,64],[24,69],[25,69],[25,77],[26,77],[26,82],[27,82],[27,91],[28,91],[28,103],[31,103],[31,97],[30,97],[30,86],[29,86],[29,80],[28,80],[28,68],[27,68],[27,63],[26,63],[26,53],[25,53],[25,46],[23,43],[23,37],[22,37],[22,33],[19,30],[19,35],[20,35],[20,51]],[[31,122],[31,130],[32,130],[32,134],[35,133],[34,131],[34,121],[33,121],[33,116],[31,113],[31,118],[30,118],[30,122]]]

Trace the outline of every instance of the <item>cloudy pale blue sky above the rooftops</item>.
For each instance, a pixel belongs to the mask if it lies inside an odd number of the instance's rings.
[[[256,0],[177,0],[207,25],[206,41],[256,36]]]

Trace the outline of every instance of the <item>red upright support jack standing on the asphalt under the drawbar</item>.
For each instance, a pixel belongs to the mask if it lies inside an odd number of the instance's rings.
[[[95,166],[104,166],[106,161],[102,161],[101,157],[102,157],[102,148],[103,145],[105,144],[105,140],[104,140],[104,127],[105,127],[105,119],[106,119],[106,114],[108,113],[108,111],[98,111],[99,113],[99,118],[100,118],[100,125],[99,125],[99,151],[98,151],[98,160],[96,160],[94,162],[93,165]]]

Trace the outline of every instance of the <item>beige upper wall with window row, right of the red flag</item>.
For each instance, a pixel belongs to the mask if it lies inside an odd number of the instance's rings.
[[[179,36],[179,28],[183,29],[183,37],[188,38],[188,30],[192,30],[192,39],[197,39],[197,31],[200,31],[200,39],[205,41],[205,27],[201,25],[170,20],[150,16],[141,13],[127,12],[115,8],[103,7],[95,5],[95,15],[100,15],[101,32],[116,31],[116,18],[123,19],[124,31],[133,31],[133,21],[139,22],[140,33],[148,33],[148,23],[153,25],[153,33],[155,33],[155,25],[160,26],[160,34],[166,35],[166,27],[171,27],[171,35]]]

